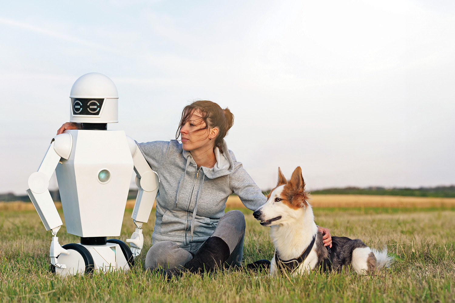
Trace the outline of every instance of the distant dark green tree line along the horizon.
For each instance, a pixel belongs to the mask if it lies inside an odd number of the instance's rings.
[[[60,192],[57,190],[49,191],[54,202],[60,201]],[[263,191],[267,195],[270,190]],[[390,196],[414,196],[414,197],[435,197],[435,198],[455,198],[455,185],[436,186],[436,187],[420,187],[418,189],[411,188],[392,188],[372,186],[366,188],[360,187],[345,187],[313,190],[311,194],[377,194]],[[137,189],[130,189],[128,199],[136,199]],[[31,202],[28,195],[16,196],[15,194],[0,194],[1,202],[24,201]]]

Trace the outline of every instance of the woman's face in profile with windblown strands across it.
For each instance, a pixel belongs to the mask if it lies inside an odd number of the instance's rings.
[[[182,148],[187,151],[212,150],[215,140],[209,139],[209,134],[212,129],[205,129],[205,122],[202,119],[200,110],[195,110],[190,116],[190,119],[180,129],[180,139],[182,140]]]

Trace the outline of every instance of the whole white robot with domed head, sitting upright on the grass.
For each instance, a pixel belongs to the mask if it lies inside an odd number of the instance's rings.
[[[46,230],[52,231],[52,271],[62,276],[94,270],[128,270],[141,253],[142,223],[147,222],[159,179],[133,139],[121,130],[107,130],[118,122],[118,94],[110,78],[99,73],[81,76],[71,88],[70,121],[81,130],[66,130],[51,140],[38,171],[28,180],[27,193]],[[131,218],[136,231],[128,247],[119,236],[132,170],[139,187]],[[56,234],[62,221],[49,193],[56,171],[66,231],[81,243],[60,246]]]

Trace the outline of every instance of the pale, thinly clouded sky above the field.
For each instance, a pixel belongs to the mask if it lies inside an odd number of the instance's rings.
[[[175,139],[193,100],[228,107],[261,189],[297,166],[309,190],[455,184],[454,54],[450,0],[6,1],[0,193],[25,194],[89,72],[138,142]]]

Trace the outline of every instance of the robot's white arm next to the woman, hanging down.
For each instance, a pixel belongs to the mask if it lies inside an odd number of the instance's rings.
[[[142,223],[147,222],[152,212],[153,202],[157,196],[160,184],[157,173],[155,173],[147,163],[147,160],[137,148],[136,142],[126,136],[133,157],[134,171],[136,172],[136,185],[139,187],[136,203],[134,204],[131,218],[136,224],[136,230],[126,242],[130,243],[131,253],[136,257],[141,253],[144,243],[142,235]]]

